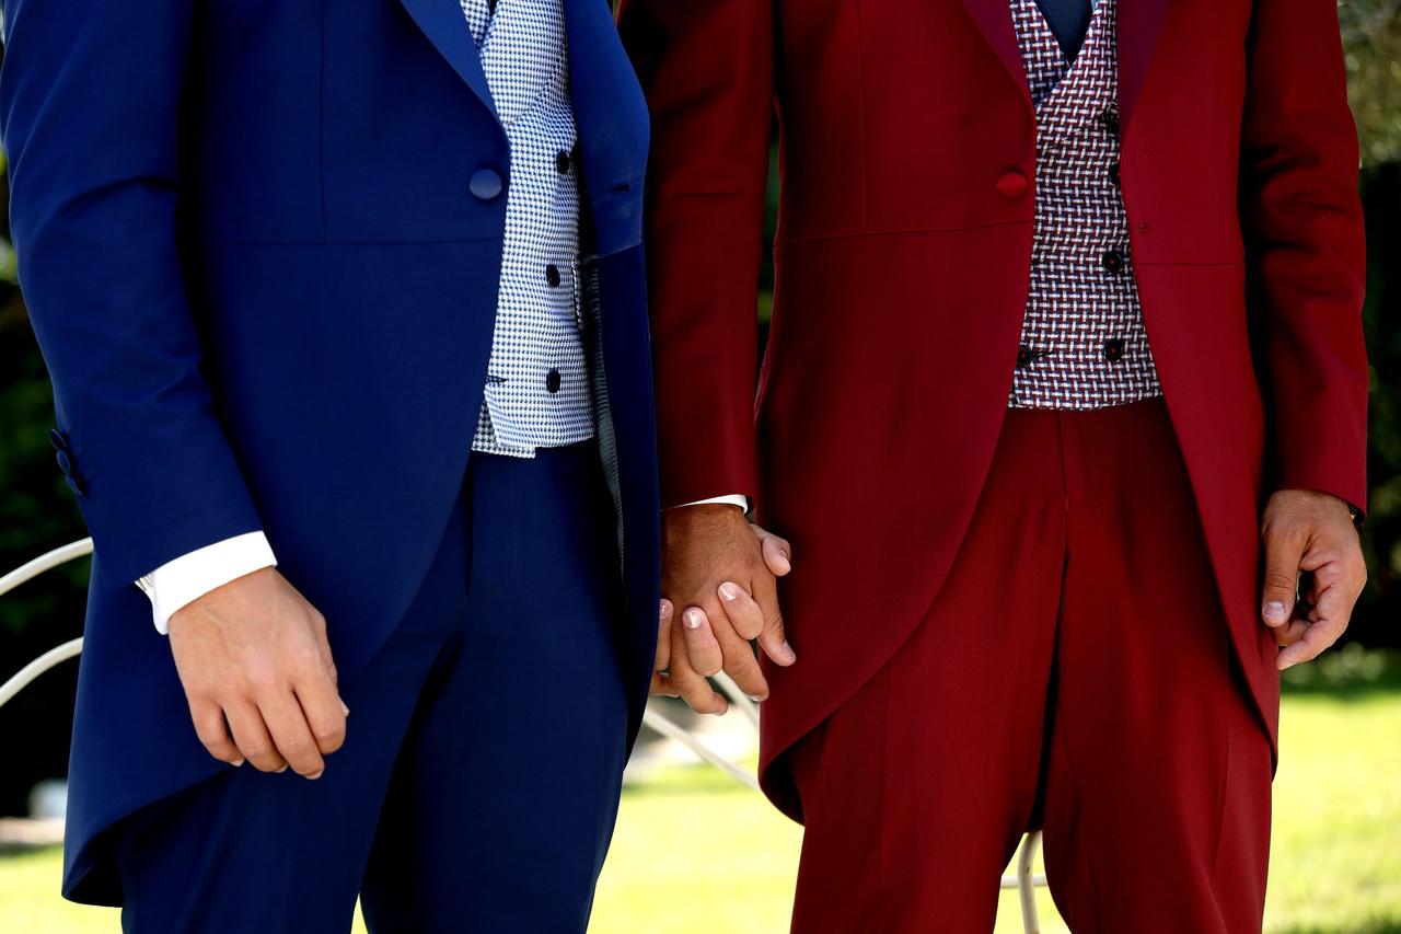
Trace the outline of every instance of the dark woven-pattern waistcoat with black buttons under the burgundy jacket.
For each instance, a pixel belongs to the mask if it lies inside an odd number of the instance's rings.
[[[1031,287],[1009,404],[1104,408],[1161,395],[1119,192],[1117,1],[1072,65],[1035,0],[1012,0],[1037,108]]]

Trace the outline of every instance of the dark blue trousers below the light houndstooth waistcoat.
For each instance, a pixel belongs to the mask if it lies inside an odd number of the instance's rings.
[[[345,934],[359,895],[374,934],[583,931],[628,729],[614,529],[591,443],[474,454],[325,776],[230,769],[136,815],[123,928]]]

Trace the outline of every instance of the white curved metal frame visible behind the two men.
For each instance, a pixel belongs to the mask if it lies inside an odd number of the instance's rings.
[[[76,561],[78,558],[92,554],[92,540],[83,539],[81,541],[74,541],[66,544],[62,548],[55,548],[53,551],[39,555],[34,561],[21,565],[11,571],[10,574],[0,578],[0,596],[4,596],[10,590],[14,590],[21,583],[32,581],[45,571],[52,571],[59,565],[67,564],[69,561]],[[14,696],[21,690],[28,687],[36,677],[43,675],[52,668],[62,665],[70,658],[77,658],[83,652],[83,638],[78,637],[63,645],[49,649],[39,658],[34,659],[24,668],[21,668],[14,676],[11,676],[4,684],[0,684],[0,707],[4,707]],[[715,682],[719,684],[720,690],[724,691],[726,697],[730,698],[730,704],[737,707],[750,721],[755,731],[759,728],[759,707],[752,700],[750,700],[740,687],[730,680],[724,673],[716,675]],[[720,771],[729,774],[736,781],[758,791],[759,780],[748,769],[740,766],[738,763],[722,756],[709,746],[706,746],[700,739],[688,731],[686,728],[677,724],[674,719],[663,714],[656,707],[647,707],[643,714],[643,722],[651,729],[657,731],[668,739],[674,739],[686,749],[689,749],[698,759],[706,762]],[[1026,934],[1040,934],[1041,920],[1037,913],[1037,886],[1047,884],[1045,877],[1040,874],[1033,874],[1031,864],[1035,861],[1037,848],[1041,844],[1041,833],[1031,833],[1027,836],[1026,841],[1021,844],[1021,850],[1017,853],[1017,869],[1014,875],[1006,875],[1002,878],[1002,888],[1017,889],[1021,900],[1021,926]]]

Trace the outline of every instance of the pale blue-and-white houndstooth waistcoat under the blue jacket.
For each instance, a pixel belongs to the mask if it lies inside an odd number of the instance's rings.
[[[461,0],[510,142],[506,240],[472,450],[532,457],[594,435],[580,332],[577,129],[563,0]]]

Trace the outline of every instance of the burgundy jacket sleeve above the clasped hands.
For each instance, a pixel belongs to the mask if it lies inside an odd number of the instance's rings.
[[[752,501],[772,0],[623,0],[619,17],[653,119],[647,251],[663,505]]]

